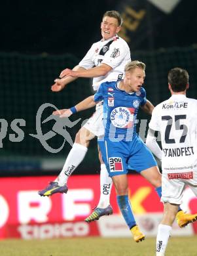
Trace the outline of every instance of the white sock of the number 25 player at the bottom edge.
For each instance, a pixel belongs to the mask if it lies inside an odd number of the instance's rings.
[[[159,224],[156,236],[156,256],[165,255],[168,239],[170,238],[171,226]]]

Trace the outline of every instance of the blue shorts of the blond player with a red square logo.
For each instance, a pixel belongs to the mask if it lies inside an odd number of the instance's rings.
[[[105,138],[98,140],[98,144],[110,177],[126,174],[128,169],[140,173],[157,165],[151,151],[138,135],[132,141],[112,142]]]

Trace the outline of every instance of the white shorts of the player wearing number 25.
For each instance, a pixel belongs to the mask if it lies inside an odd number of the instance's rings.
[[[197,171],[193,171],[193,179],[169,179],[169,173],[162,174],[162,198],[161,202],[181,204],[185,186],[197,196]],[[173,173],[174,175],[174,173]]]

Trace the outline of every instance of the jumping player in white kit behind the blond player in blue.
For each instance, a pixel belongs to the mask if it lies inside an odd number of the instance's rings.
[[[62,71],[60,74],[62,79],[55,80],[55,84],[52,85],[52,91],[61,91],[65,85],[71,83],[77,77],[93,77],[93,88],[95,91],[104,81],[116,81],[122,78],[124,66],[130,62],[130,49],[126,41],[117,35],[121,24],[122,18],[119,12],[105,12],[101,22],[102,39],[92,45],[88,53],[79,62],[79,65],[75,66],[73,70],[65,69]],[[103,135],[102,118],[103,106],[98,104],[95,114],[88,119],[87,123],[77,133],[73,148],[67,156],[60,175],[54,182],[50,182],[49,186],[44,190],[39,191],[41,196],[51,196],[57,192],[67,192],[67,179],[84,159],[90,140]],[[109,203],[112,180],[107,173],[100,153],[99,160],[101,161],[100,200],[98,207],[86,221],[94,221],[94,213],[97,210],[99,210],[99,213],[96,215],[96,219],[99,219],[101,215],[113,213]]]

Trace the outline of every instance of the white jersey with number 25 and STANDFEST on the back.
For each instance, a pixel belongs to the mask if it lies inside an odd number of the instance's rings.
[[[197,100],[172,95],[154,108],[149,127],[161,133],[162,173],[197,169]]]

